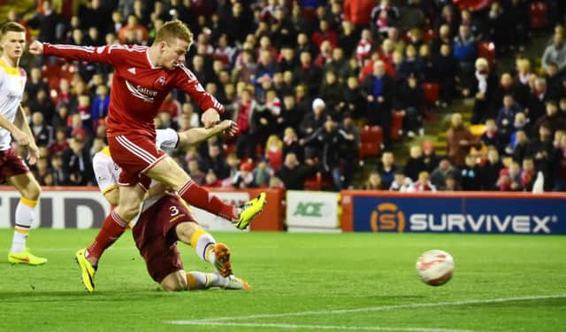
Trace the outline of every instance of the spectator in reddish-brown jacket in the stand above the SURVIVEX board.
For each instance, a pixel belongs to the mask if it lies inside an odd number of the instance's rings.
[[[447,156],[453,160],[455,166],[463,166],[470,148],[478,145],[478,138],[463,125],[460,113],[452,114],[447,131],[447,144]]]

